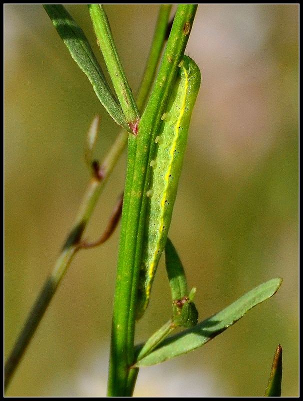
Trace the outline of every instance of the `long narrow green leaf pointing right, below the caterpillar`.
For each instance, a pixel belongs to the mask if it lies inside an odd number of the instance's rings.
[[[248,310],[270,298],[282,283],[281,278],[267,281],[249,291],[219,313],[162,341],[159,346],[135,363],[134,367],[151,366],[201,347],[227,327],[239,320]]]

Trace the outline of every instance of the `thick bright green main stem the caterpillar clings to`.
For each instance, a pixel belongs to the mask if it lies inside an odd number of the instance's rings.
[[[111,332],[109,396],[126,396],[129,368],[134,361],[136,292],[146,219],[146,188],[150,184],[150,144],[159,130],[169,91],[192,27],[196,5],[178,6],[159,73],[139,123],[137,137],[129,136],[127,171],[121,220],[114,310]],[[145,117],[144,117],[145,116]],[[134,383],[132,383],[133,385]]]

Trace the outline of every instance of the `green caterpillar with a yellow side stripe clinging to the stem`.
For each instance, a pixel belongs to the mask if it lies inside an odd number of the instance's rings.
[[[160,135],[155,138],[158,144],[156,157],[150,162],[153,169],[152,187],[146,193],[150,202],[143,241],[136,319],[147,308],[155,270],[167,239],[191,112],[200,81],[198,66],[188,56],[183,56],[167,112],[161,118],[163,124]]]

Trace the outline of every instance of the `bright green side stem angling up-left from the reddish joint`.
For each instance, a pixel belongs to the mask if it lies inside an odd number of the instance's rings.
[[[94,32],[123,114],[128,125],[131,128],[133,128],[133,126],[136,127],[139,112],[116,51],[104,9],[99,4],[89,4],[88,9]],[[136,128],[134,132],[136,132]]]

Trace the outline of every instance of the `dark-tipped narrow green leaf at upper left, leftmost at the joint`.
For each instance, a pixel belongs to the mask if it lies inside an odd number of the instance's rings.
[[[62,5],[43,5],[73,60],[89,79],[95,94],[113,120],[131,132],[83,31]]]

